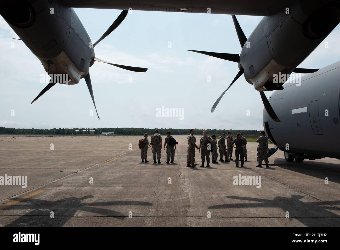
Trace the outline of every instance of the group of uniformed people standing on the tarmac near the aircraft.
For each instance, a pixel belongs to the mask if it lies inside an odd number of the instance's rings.
[[[244,136],[242,136],[241,132],[238,132],[236,135],[236,139],[234,140],[232,137],[232,133],[229,131],[227,134],[227,137],[225,138],[225,134],[222,133],[221,138],[218,140],[216,139],[216,135],[207,136],[207,132],[203,131],[203,136],[200,139],[200,144],[197,146],[196,144],[196,138],[194,137],[195,131],[193,129],[190,129],[190,135],[188,136],[188,150],[187,150],[187,167],[195,167],[197,164],[195,163],[195,149],[198,149],[201,153],[201,160],[202,164],[200,167],[204,167],[205,159],[207,161],[206,167],[210,167],[210,153],[211,153],[211,163],[218,164],[218,153],[217,148],[220,153],[220,162],[230,162],[233,161],[232,155],[233,155],[233,148],[235,148],[235,163],[236,167],[239,166],[239,158],[241,161],[241,167],[244,166],[244,158],[245,161],[248,161],[247,158],[247,140]],[[167,131],[167,137],[165,138],[164,142],[164,150],[166,148],[166,154],[167,154],[167,161],[166,163],[173,163],[175,158],[175,150],[176,144],[170,145],[171,140],[171,131]],[[256,167],[262,167],[262,160],[265,161],[266,167],[269,167],[268,165],[268,156],[267,156],[267,141],[268,138],[265,136],[265,131],[261,131],[260,137],[256,140],[256,142],[259,143],[257,147],[257,162],[258,165]],[[149,162],[147,161],[147,152],[148,147],[152,149],[152,158],[153,163],[161,163],[160,162],[160,152],[162,150],[162,136],[159,134],[158,129],[155,130],[154,135],[151,137],[151,143],[149,144],[148,140],[148,134],[146,133],[144,135],[144,148],[141,149],[141,158],[142,162]],[[223,156],[225,160],[223,160]],[[157,162],[156,162],[157,158]],[[171,161],[170,161],[171,158]]]

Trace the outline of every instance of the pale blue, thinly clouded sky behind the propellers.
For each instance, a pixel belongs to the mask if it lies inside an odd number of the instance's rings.
[[[95,41],[121,11],[77,8],[75,12]],[[249,37],[262,17],[237,18]],[[230,15],[147,11],[128,14],[95,47],[96,57],[115,64],[147,67],[148,71],[136,73],[95,62],[90,73],[100,120],[96,114],[89,115],[94,106],[84,79],[77,85],[57,84],[30,104],[46,86],[39,82],[45,71],[26,45],[12,38],[18,36],[0,16],[0,126],[262,128],[260,95],[243,76],[210,113],[211,106],[237,74],[237,64],[186,51],[239,54],[241,48]],[[13,41],[15,48],[11,48]],[[325,41],[329,48],[322,42],[300,68],[322,68],[339,60],[339,25]],[[207,82],[208,76],[211,82]],[[266,92],[268,97],[271,94]],[[183,109],[182,118],[157,117],[157,108],[162,106]]]

